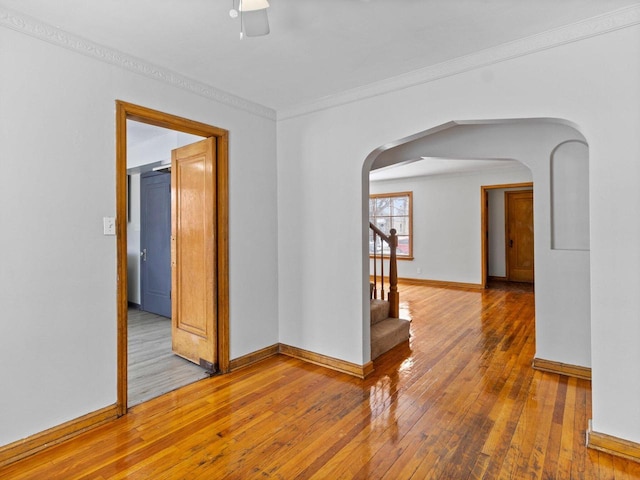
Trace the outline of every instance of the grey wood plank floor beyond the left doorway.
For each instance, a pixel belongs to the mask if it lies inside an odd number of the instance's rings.
[[[171,319],[130,309],[128,397],[134,406],[209,375],[171,351]]]

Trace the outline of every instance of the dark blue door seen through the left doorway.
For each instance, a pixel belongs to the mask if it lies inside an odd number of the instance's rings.
[[[171,317],[171,174],[140,176],[140,303]]]

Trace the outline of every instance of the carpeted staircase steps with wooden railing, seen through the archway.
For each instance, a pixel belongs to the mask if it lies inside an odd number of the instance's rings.
[[[398,294],[398,274],[396,265],[396,248],[398,238],[396,231],[391,229],[386,235],[372,223],[369,224],[372,230],[372,244],[374,245],[373,258],[373,282],[370,285],[369,294],[371,302],[371,359],[375,359],[391,350],[396,345],[409,340],[408,320],[397,318],[400,310],[400,297]],[[388,255],[385,255],[385,248],[377,252],[378,239],[388,245]],[[389,271],[389,292],[385,300],[384,291],[384,265],[388,261]],[[378,261],[380,262],[380,283],[378,283]],[[379,286],[378,286],[379,285]],[[380,298],[378,298],[378,295]]]

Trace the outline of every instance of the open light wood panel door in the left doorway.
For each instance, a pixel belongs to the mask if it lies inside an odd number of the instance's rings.
[[[215,160],[214,138],[171,156],[173,351],[208,369],[217,359]]]

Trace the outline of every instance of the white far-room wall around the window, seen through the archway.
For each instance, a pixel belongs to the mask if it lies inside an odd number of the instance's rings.
[[[371,182],[369,193],[413,192],[413,260],[398,261],[398,276],[480,284],[480,187],[529,181],[522,166]],[[504,205],[502,230],[504,255]]]

